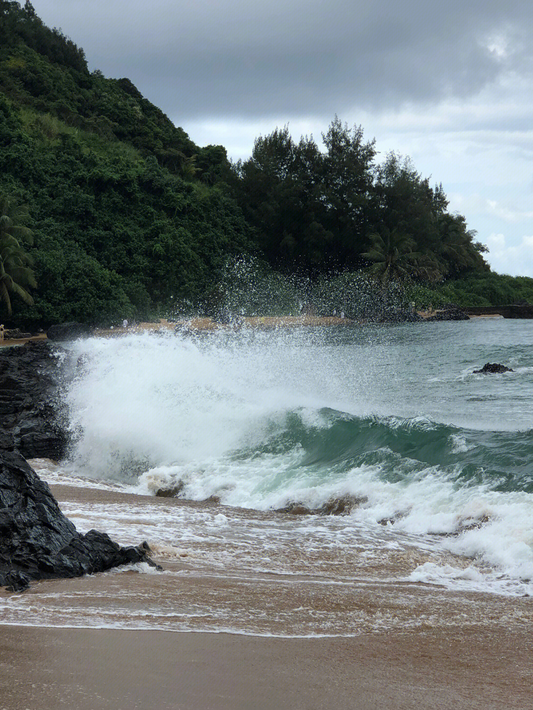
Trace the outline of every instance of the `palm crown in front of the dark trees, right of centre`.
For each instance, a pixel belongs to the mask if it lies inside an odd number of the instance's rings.
[[[419,257],[414,251],[414,239],[397,227],[390,230],[384,226],[383,234],[370,234],[370,249],[361,254],[373,262],[370,273],[378,275],[383,282],[410,277]]]

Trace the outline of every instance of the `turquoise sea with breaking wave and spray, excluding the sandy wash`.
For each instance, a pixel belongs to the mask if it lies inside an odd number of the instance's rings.
[[[78,342],[70,467],[261,510],[358,496],[369,530],[444,535],[528,582],[532,334],[479,319]],[[514,371],[473,374],[488,361]]]

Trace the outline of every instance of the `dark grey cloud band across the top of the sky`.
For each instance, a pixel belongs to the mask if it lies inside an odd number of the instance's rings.
[[[522,0],[34,0],[179,123],[201,116],[330,118],[480,92],[532,72]]]

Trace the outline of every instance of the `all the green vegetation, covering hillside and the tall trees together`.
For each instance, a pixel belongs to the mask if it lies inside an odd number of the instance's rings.
[[[339,293],[362,304],[396,280],[420,304],[533,300],[533,280],[490,273],[475,232],[409,160],[378,163],[361,127],[339,119],[323,139],[321,150],[276,129],[232,165],[129,80],[89,72],[31,3],[0,0],[0,192],[28,204],[34,236],[11,243],[17,324],[104,323],[172,304],[327,310]],[[255,275],[235,266],[251,255]]]

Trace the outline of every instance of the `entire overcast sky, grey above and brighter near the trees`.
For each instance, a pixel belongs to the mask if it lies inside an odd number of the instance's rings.
[[[247,158],[338,114],[410,155],[490,248],[533,276],[533,11],[527,0],[33,0],[89,68],[128,77],[199,145]]]

